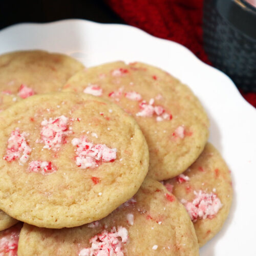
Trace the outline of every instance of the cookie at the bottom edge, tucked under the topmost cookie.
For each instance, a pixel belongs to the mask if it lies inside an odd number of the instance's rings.
[[[183,205],[160,182],[145,179],[134,197],[100,221],[60,230],[24,224],[18,254],[191,256],[199,248]]]

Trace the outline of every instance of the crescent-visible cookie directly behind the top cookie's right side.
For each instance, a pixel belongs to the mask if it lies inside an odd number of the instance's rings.
[[[158,68],[118,61],[89,68],[71,77],[65,91],[112,100],[134,116],[150,150],[148,176],[175,177],[203,151],[208,118],[191,90]]]

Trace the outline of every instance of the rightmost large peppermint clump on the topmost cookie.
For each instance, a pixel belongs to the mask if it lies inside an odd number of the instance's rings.
[[[114,162],[116,159],[116,148],[110,148],[105,144],[93,144],[85,136],[80,139],[74,138],[72,145],[76,148],[76,165],[82,169],[95,168],[102,162]]]

